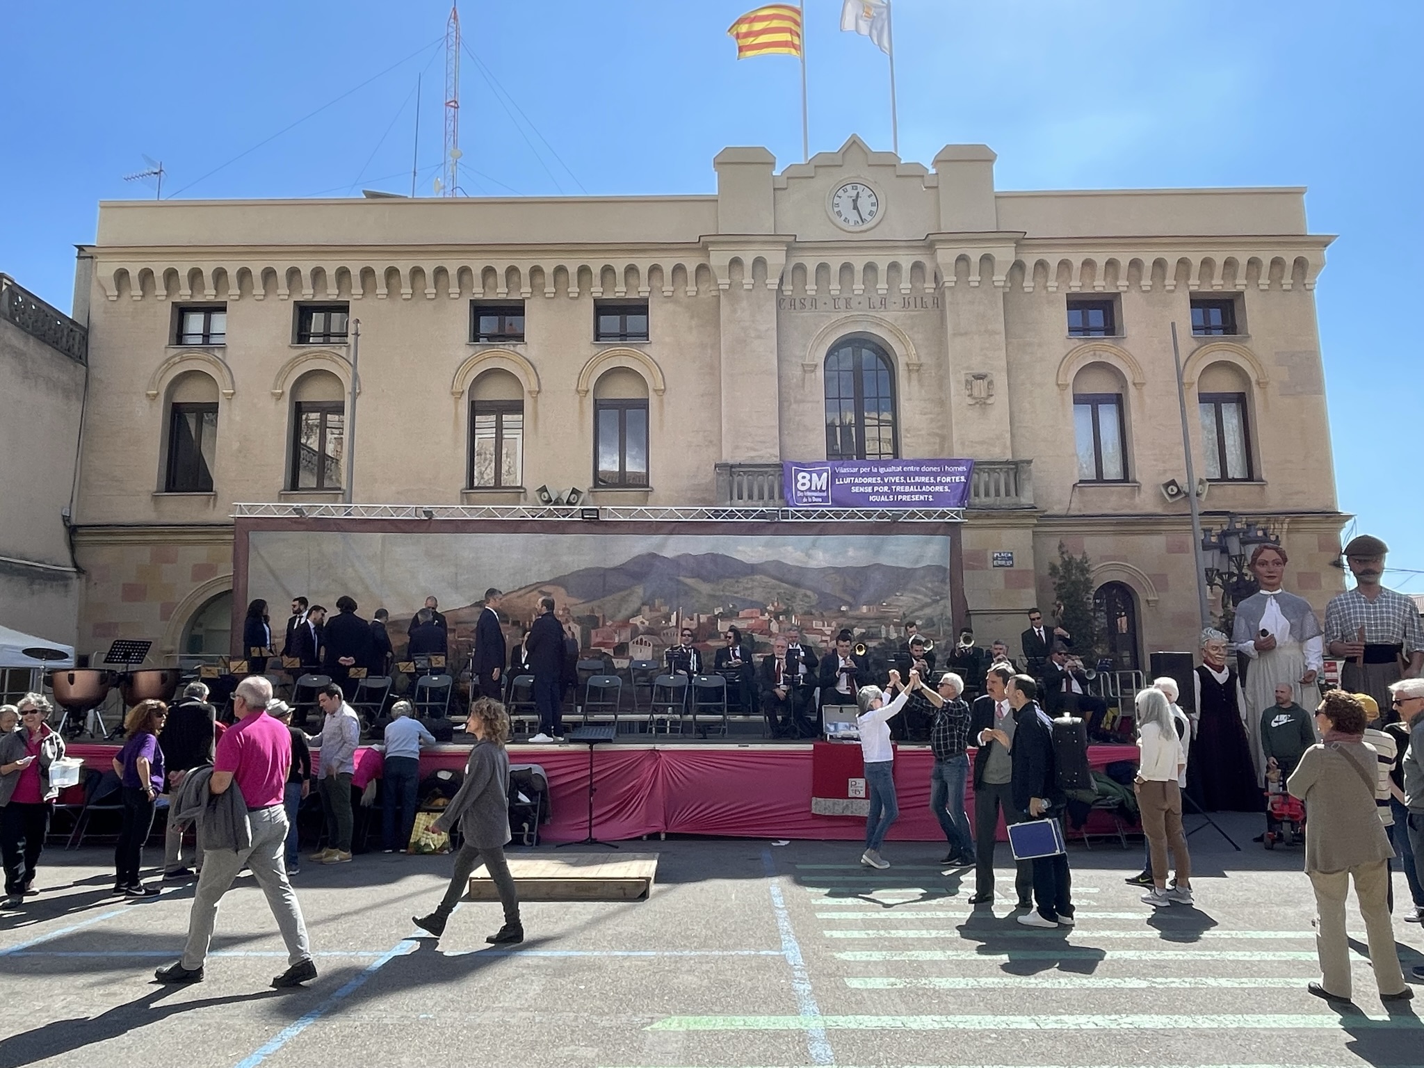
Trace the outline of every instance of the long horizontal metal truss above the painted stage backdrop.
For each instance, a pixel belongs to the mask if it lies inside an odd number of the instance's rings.
[[[568,523],[963,523],[963,508],[733,508],[523,504],[234,504],[235,520],[548,520]]]

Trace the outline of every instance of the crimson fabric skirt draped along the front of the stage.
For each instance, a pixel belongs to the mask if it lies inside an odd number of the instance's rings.
[[[68,755],[107,769],[111,745],[71,745]],[[859,750],[854,750],[859,755]],[[313,758],[315,758],[313,750]],[[468,749],[441,748],[420,756],[420,773],[441,768],[464,770]],[[1136,760],[1132,745],[1095,745],[1088,760],[1101,770],[1115,760]],[[535,763],[548,776],[554,817],[544,824],[548,842],[575,842],[588,830],[588,749],[575,745],[513,745],[510,763]],[[607,840],[672,834],[718,834],[753,839],[864,837],[859,816],[816,816],[812,799],[812,745],[601,745],[594,753],[594,836]],[[894,782],[900,819],[890,827],[896,842],[938,842],[944,837],[930,812],[927,748],[896,750]],[[365,786],[379,775],[380,753],[362,749],[357,772]],[[355,780],[353,780],[355,782]],[[971,787],[973,790],[973,787]],[[970,813],[973,796],[965,799]]]

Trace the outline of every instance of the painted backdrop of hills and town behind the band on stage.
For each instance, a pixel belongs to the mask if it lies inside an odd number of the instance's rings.
[[[899,644],[904,619],[948,637],[953,618],[943,534],[253,531],[248,553],[248,597],[285,605],[302,594],[332,608],[347,594],[367,619],[384,607],[397,651],[427,595],[467,641],[488,587],[506,591],[511,644],[551,595],[580,648],[615,661],[661,659],[682,627],[712,648],[736,625],[766,652],[790,625],[820,649],[843,627],[874,648]]]

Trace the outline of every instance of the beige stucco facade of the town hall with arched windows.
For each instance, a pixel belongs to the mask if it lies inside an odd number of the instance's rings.
[[[1014,641],[1022,611],[1051,604],[1064,543],[1131,588],[1142,652],[1192,648],[1198,628],[1186,503],[1161,488],[1186,483],[1176,322],[1199,473],[1198,390],[1247,399],[1253,477],[1213,483],[1203,508],[1272,521],[1319,608],[1341,588],[1312,292],[1329,238],[1307,232],[1303,189],[1000,192],[984,145],[927,168],[859,138],[780,171],[760,148],[713,162],[709,197],[101,204],[81,253],[80,649],[175,651],[231,575],[234,503],[339,500],[288,488],[293,396],[350,389],[347,346],[295,343],[295,308],[323,300],[360,322],[357,503],[533,504],[538,486],[735,503],[775,483],[768,466],[826,457],[827,352],[873,340],[899,454],[978,463],[964,587],[980,637]],[[879,202],[854,229],[830,211],[847,181]],[[1230,299],[1237,333],[1193,336],[1200,296]],[[1068,336],[1079,298],[1114,302],[1112,336]],[[523,300],[525,339],[470,342],[474,299]],[[594,340],[608,299],[648,302],[646,342]],[[175,306],[204,305],[225,306],[225,343],[174,345]],[[648,399],[646,488],[591,486],[601,382]],[[466,484],[477,383],[523,399],[520,488]],[[1074,394],[1104,383],[1122,396],[1125,481],[1078,477]],[[218,404],[214,488],[164,493],[168,407],[192,397]],[[1014,565],[993,567],[1005,551]]]

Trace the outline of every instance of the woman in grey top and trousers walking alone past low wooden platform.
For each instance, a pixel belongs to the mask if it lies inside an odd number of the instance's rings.
[[[444,934],[450,913],[470,886],[470,873],[483,862],[504,906],[504,926],[486,941],[508,946],[524,941],[520,899],[504,860],[504,846],[510,840],[510,753],[504,748],[510,738],[510,716],[498,701],[480,698],[470,706],[466,731],[476,736],[476,743],[464,768],[464,782],[434,823],[436,830],[459,824],[464,844],[454,859],[450,887],[440,904],[430,916],[412,918],[416,927],[437,938]]]

